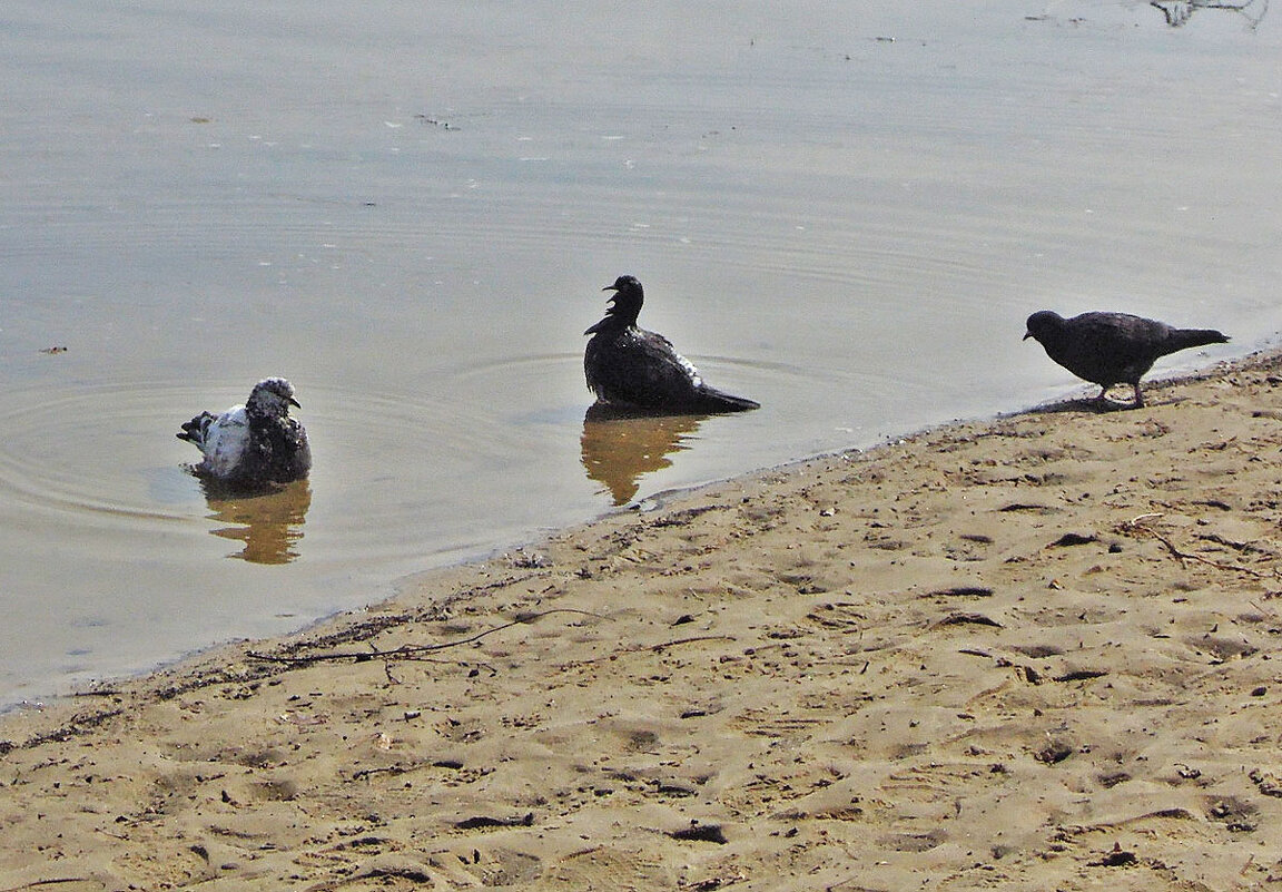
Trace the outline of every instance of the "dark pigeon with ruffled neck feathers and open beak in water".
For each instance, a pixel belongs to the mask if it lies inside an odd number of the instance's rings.
[[[751,399],[708,386],[667,338],[637,327],[645,293],[636,277],[619,276],[601,290],[614,291],[605,318],[583,332],[592,335],[583,352],[583,373],[601,403],[667,415],[760,408]]]

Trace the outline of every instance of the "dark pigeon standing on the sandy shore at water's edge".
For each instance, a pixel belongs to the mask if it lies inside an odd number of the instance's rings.
[[[1135,407],[1144,406],[1140,379],[1154,362],[1190,347],[1228,341],[1211,329],[1174,329],[1129,313],[1082,313],[1065,320],[1049,309],[1028,317],[1024,340],[1029,338],[1064,368],[1104,388],[1100,402],[1114,384],[1129,384]]]

